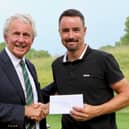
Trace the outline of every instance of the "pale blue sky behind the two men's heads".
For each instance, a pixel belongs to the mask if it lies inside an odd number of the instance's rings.
[[[69,8],[75,8],[85,17],[85,42],[92,48],[114,45],[124,35],[129,16],[129,0],[0,0],[0,42],[5,20],[16,13],[29,14],[36,23],[37,37],[32,48],[62,55],[63,47],[58,33],[58,18]]]

